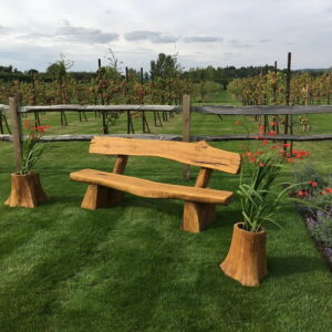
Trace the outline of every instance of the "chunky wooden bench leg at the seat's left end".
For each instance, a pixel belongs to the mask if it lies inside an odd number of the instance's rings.
[[[124,197],[123,191],[97,185],[89,185],[81,207],[95,210],[103,207],[117,205]]]

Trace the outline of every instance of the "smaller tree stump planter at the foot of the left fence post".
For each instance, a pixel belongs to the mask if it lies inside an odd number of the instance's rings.
[[[11,191],[9,198],[4,201],[6,205],[34,208],[48,199],[38,173],[11,174]]]

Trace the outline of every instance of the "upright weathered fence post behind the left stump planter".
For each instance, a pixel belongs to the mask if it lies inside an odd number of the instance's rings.
[[[17,172],[21,170],[22,165],[22,126],[20,116],[20,104],[18,97],[9,98],[9,113],[11,121],[12,142],[14,148],[14,162]]]

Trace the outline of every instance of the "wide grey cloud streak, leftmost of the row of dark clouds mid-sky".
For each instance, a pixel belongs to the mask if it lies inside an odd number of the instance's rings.
[[[56,31],[56,35],[69,41],[90,43],[107,43],[118,39],[118,33],[106,33],[100,29],[72,27],[70,24],[60,27]]]

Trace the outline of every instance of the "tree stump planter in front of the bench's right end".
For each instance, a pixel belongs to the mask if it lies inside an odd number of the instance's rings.
[[[220,263],[224,273],[243,286],[259,286],[268,274],[266,230],[245,230],[243,222],[235,224],[226,259]]]

